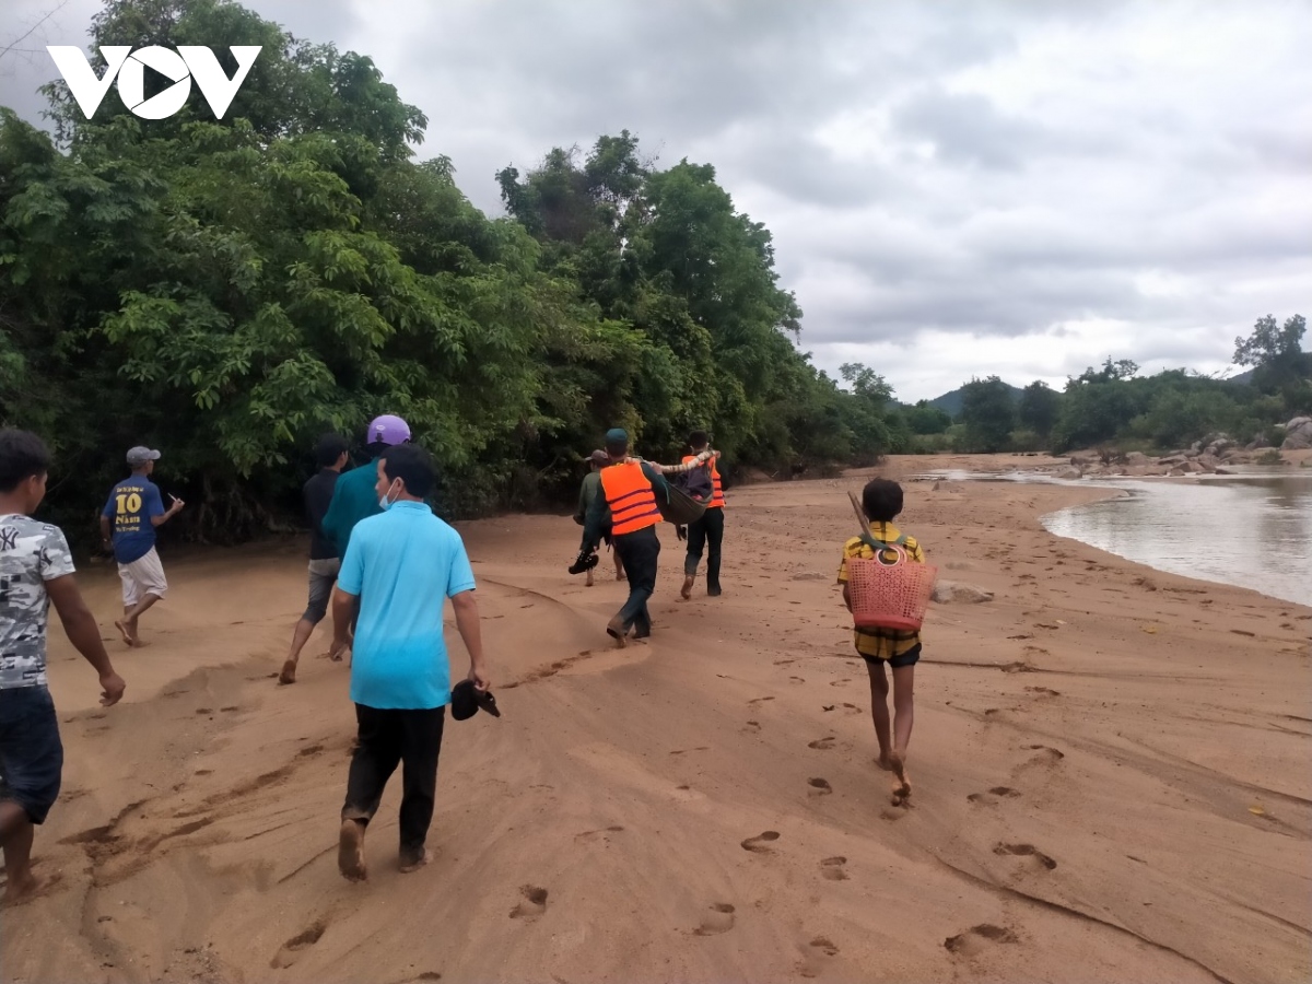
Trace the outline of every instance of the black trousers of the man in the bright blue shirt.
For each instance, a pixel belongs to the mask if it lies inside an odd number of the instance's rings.
[[[387,781],[401,764],[401,861],[424,853],[437,795],[437,757],[442,752],[446,707],[388,711],[356,705],[358,732],[346,775],[342,820],[367,824],[383,798]]]

